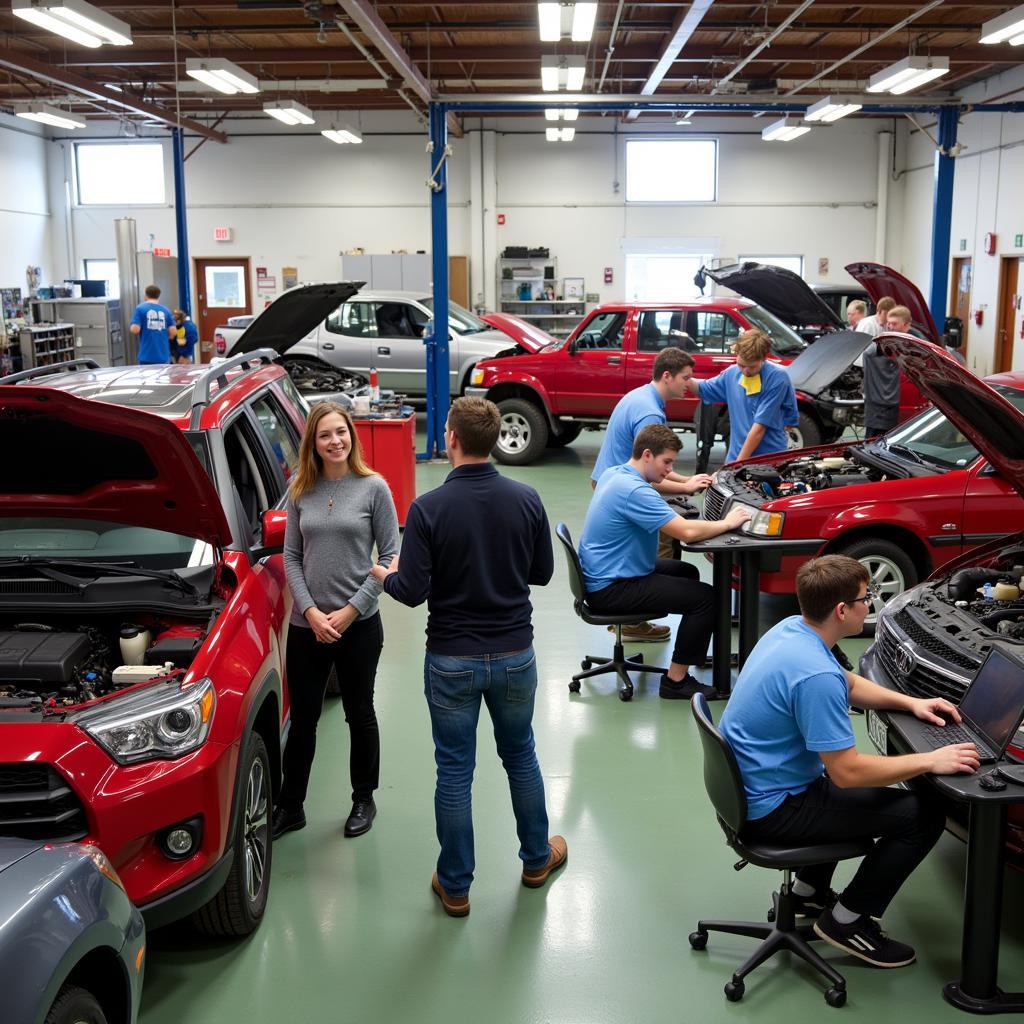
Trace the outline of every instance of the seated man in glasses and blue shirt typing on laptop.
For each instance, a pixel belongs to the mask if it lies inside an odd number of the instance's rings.
[[[910,697],[840,668],[830,648],[864,628],[872,597],[868,570],[847,555],[823,555],[797,572],[800,615],[772,627],[743,665],[719,728],[746,793],[742,838],[769,843],[877,842],[838,896],[836,864],[802,867],[793,883],[797,913],[815,915],[819,938],[874,967],[903,967],[912,947],[878,920],[938,842],[945,813],[926,793],[895,788],[931,772],[974,772],[974,743],[926,754],[860,754],[849,708],[909,712],[945,725],[959,713],[941,697]],[[827,774],[825,774],[827,771]]]

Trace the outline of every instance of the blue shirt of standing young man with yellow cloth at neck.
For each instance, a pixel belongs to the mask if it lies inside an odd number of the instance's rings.
[[[755,423],[767,428],[754,455],[784,452],[785,428],[800,422],[797,396],[790,375],[774,362],[765,360],[761,368],[761,390],[748,394],[740,379],[742,371],[737,366],[723,370],[717,377],[700,382],[701,401],[724,401],[729,407],[729,453],[726,462],[732,462]]]

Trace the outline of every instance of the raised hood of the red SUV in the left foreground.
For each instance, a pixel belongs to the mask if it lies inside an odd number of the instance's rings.
[[[0,516],[101,519],[230,544],[213,481],[163,417],[2,385],[0,451]]]

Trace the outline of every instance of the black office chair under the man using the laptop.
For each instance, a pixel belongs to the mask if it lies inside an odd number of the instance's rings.
[[[736,758],[725,737],[715,728],[703,694],[696,694],[690,701],[690,707],[703,749],[705,787],[718,815],[718,823],[725,833],[725,841],[742,858],[735,865],[736,870],[750,863],[757,864],[758,867],[775,867],[783,872],[779,891],[772,893],[773,909],[769,913],[767,924],[757,921],[698,921],[697,930],[690,933],[690,945],[694,949],[703,949],[708,945],[709,932],[749,935],[764,940],[726,984],[725,995],[730,1002],[736,1002],[743,997],[743,978],[746,975],[775,953],[787,949],[807,961],[831,982],[831,987],[825,992],[825,1002],[830,1007],[843,1006],[846,1002],[846,979],[811,948],[810,943],[817,939],[813,923],[807,922],[803,925],[796,923],[792,892],[793,871],[810,864],[863,857],[871,849],[870,840],[820,843],[814,846],[743,840],[741,834],[743,825],[746,824],[746,794],[743,791],[743,780],[739,774]]]

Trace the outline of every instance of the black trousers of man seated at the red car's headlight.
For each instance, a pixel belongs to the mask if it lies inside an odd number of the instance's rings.
[[[703,665],[715,632],[714,595],[708,584],[700,583],[695,565],[659,558],[650,575],[616,580],[588,594],[587,603],[602,615],[643,611],[681,614],[672,660],[678,665]]]

